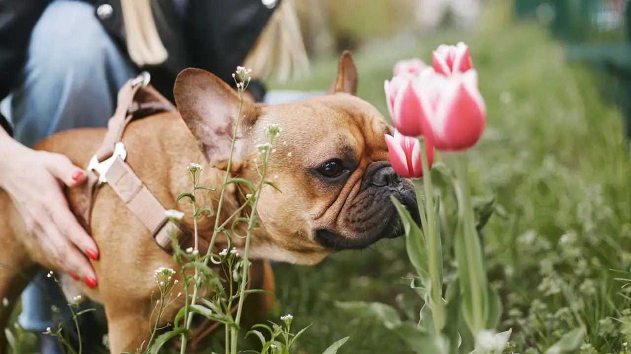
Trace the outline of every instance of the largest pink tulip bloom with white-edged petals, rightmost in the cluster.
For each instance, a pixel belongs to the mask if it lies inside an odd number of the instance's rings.
[[[414,83],[421,103],[423,133],[439,151],[463,151],[482,135],[487,109],[478,91],[478,73],[425,75]]]

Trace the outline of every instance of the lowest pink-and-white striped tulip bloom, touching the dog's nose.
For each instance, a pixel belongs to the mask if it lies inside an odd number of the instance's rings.
[[[394,130],[394,136],[385,135],[388,146],[390,163],[394,172],[403,178],[423,177],[423,164],[421,160],[421,143],[413,137],[406,137]],[[429,139],[425,138],[425,151],[427,151],[428,166],[431,169],[434,148]]]

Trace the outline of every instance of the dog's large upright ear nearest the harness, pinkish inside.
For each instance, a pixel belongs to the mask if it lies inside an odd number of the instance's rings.
[[[194,68],[180,72],[173,93],[177,110],[198,140],[206,161],[214,168],[227,169],[239,115],[239,94],[215,75]],[[240,166],[240,151],[244,144],[241,132],[254,125],[259,115],[258,106],[243,102],[231,169]]]

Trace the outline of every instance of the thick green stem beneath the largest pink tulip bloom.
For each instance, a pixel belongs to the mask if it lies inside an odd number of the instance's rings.
[[[471,263],[468,265],[460,265],[459,268],[464,272],[468,272],[466,275],[468,277],[469,282],[471,282],[471,299],[473,302],[473,326],[475,328],[471,328],[473,334],[476,334],[476,331],[480,331],[484,328],[484,307],[485,307],[485,296],[486,296],[486,286],[483,283],[484,279],[478,279],[478,274],[486,275],[483,270],[482,265],[482,250],[480,247],[480,239],[478,239],[478,234],[475,228],[475,217],[473,215],[473,203],[471,202],[471,186],[469,186],[469,161],[468,155],[466,152],[462,152],[457,157],[457,178],[462,186],[462,212],[461,217],[463,218],[461,222],[463,222],[463,232],[461,237],[464,237],[464,244],[466,245],[464,252],[468,254],[467,259],[471,260]],[[462,273],[461,273],[462,274]]]

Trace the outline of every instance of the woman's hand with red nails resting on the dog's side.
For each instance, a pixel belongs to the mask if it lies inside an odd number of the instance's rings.
[[[98,258],[97,246],[68,206],[62,184],[72,188],[86,181],[86,173],[68,157],[35,151],[0,129],[0,188],[7,191],[28,232],[74,280],[97,286],[85,253]],[[81,251],[79,251],[81,250]]]

